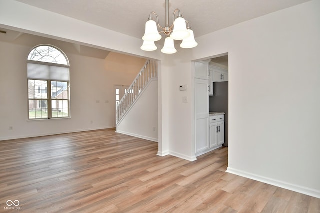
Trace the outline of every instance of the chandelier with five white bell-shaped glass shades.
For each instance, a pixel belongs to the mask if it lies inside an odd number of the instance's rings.
[[[177,13],[177,14],[176,14]],[[152,14],[156,17],[156,22],[152,18]],[[161,52],[166,54],[173,54],[176,52],[174,47],[174,40],[182,40],[180,47],[193,48],[198,44],[194,39],[194,34],[189,26],[189,22],[185,20],[179,9],[175,9],[173,12],[173,24],[169,25],[169,0],[165,0],[165,27],[159,24],[158,15],[155,12],[150,12],[149,18],[145,23],[145,33],[142,37],[143,44],[141,49],[144,51],[153,51],[157,49],[154,42],[162,38],[159,32],[166,35],[164,40],[164,46]],[[186,26],[187,24],[187,26]],[[158,31],[157,26],[161,29]]]

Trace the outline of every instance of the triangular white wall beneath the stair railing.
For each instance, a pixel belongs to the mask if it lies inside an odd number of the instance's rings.
[[[151,80],[139,94],[124,119],[118,124],[119,133],[158,142],[158,81]]]

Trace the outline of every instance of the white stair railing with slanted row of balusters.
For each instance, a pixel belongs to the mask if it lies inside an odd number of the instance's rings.
[[[116,124],[119,123],[123,116],[128,112],[150,80],[157,77],[157,61],[147,60],[119,103],[116,105]]]

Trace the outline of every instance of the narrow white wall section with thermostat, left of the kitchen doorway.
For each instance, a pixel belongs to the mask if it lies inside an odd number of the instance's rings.
[[[191,50],[192,51],[192,50]],[[175,57],[167,59],[166,72],[168,73],[167,86],[164,88],[168,94],[168,131],[169,154],[195,160],[195,146],[192,144],[192,114],[194,89],[191,77],[193,76],[193,63],[179,49]],[[180,85],[187,85],[187,90],[180,91]],[[182,101],[187,97],[187,103]]]

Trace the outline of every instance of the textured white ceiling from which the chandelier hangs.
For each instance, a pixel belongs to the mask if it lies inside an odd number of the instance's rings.
[[[165,0],[16,0],[141,38],[149,13],[165,25]],[[169,23],[175,8],[189,21],[195,37],[309,0],[170,0]]]

